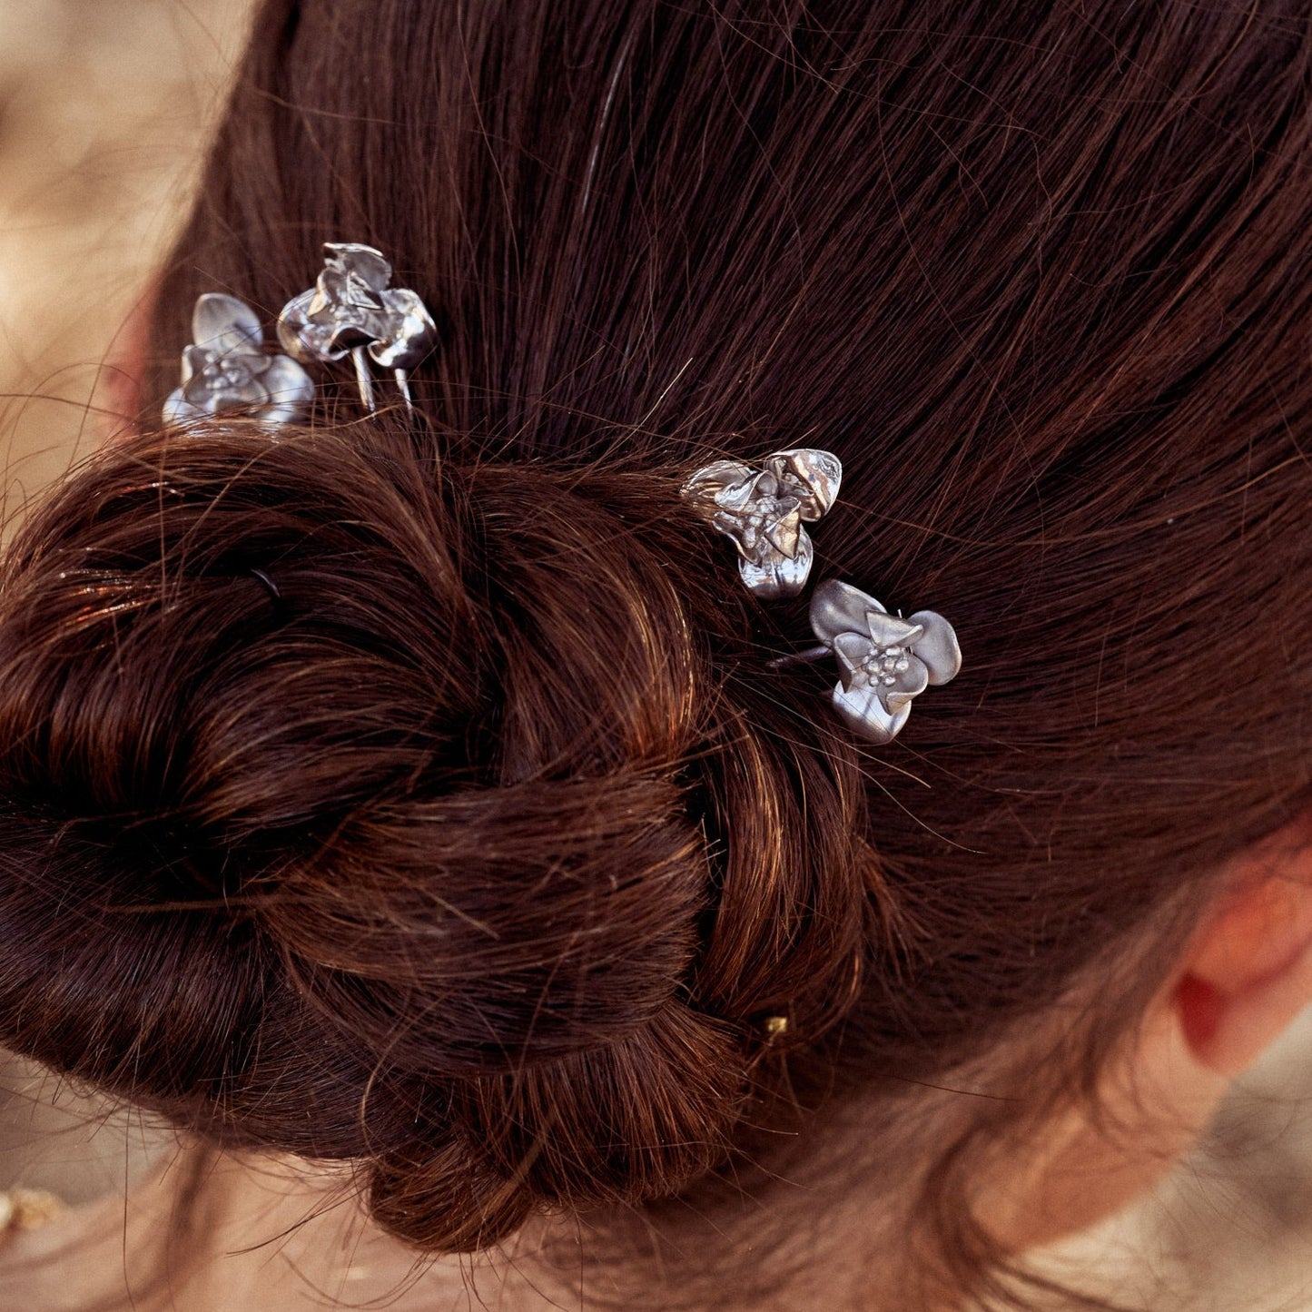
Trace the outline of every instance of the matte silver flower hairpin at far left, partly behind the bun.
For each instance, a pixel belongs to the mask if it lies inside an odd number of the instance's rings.
[[[244,411],[270,428],[304,417],[315,384],[294,359],[265,352],[260,316],[245,302],[222,291],[198,297],[192,337],[182,352],[182,386],[164,401],[165,424],[224,411]]]

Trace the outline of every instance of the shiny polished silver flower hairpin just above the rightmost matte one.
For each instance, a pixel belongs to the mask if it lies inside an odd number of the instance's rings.
[[[842,463],[832,451],[774,451],[752,468],[715,461],[682,487],[685,500],[733,541],[743,583],[758,597],[792,597],[806,586],[815,548],[802,522],[833,505]]]

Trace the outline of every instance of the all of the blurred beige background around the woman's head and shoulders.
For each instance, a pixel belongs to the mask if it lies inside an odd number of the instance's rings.
[[[10,514],[106,429],[105,362],[185,213],[248,8],[0,0],[0,472]],[[1204,1151],[1054,1262],[1151,1312],[1312,1309],[1308,1089],[1312,1017],[1236,1090]],[[122,1189],[164,1143],[143,1118],[0,1054],[0,1189],[87,1202]],[[21,1309],[0,1291],[0,1312]]]

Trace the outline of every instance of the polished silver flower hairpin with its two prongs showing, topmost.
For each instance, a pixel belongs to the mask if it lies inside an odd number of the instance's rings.
[[[391,369],[411,404],[405,371],[432,349],[437,325],[419,293],[390,287],[392,266],[382,252],[354,241],[328,241],[324,270],[315,286],[293,297],[278,315],[278,340],[303,363],[323,363],[350,356],[359,399],[374,411],[369,357]]]

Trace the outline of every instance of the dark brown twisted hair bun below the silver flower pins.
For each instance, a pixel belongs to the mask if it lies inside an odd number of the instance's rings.
[[[386,422],[94,458],[0,602],[9,1033],[220,1141],[370,1162],[429,1248],[719,1161],[764,1010],[824,1012],[859,917],[810,924],[800,844],[706,830],[731,789],[745,833],[807,821],[714,673],[745,607],[690,584],[673,489]],[[830,869],[849,830],[812,836]]]

